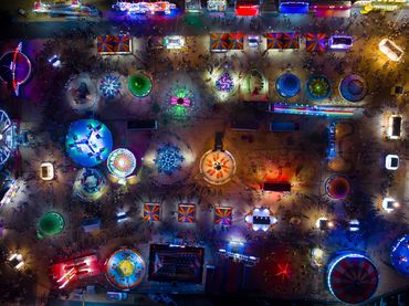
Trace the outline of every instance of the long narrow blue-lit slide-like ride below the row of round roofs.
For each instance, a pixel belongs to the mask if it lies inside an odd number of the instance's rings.
[[[300,105],[285,103],[274,103],[272,106],[273,112],[277,114],[327,116],[339,118],[354,117],[354,115],[358,110],[360,110],[360,108],[352,107],[333,107],[333,106]]]

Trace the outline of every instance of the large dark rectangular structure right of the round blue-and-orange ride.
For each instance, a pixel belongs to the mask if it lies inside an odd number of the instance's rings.
[[[174,244],[150,244],[149,281],[201,284],[204,249]]]

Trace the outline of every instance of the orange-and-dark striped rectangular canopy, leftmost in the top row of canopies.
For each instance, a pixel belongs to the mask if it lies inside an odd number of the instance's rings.
[[[96,39],[99,54],[129,54],[132,40],[129,35],[102,35]]]

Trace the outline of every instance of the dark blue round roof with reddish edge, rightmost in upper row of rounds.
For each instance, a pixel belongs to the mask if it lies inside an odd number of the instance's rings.
[[[358,74],[349,74],[339,83],[340,96],[349,102],[360,102],[368,92],[365,78]]]

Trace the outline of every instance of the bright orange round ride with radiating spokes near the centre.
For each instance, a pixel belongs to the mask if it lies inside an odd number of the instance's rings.
[[[200,159],[200,172],[207,182],[227,183],[235,175],[234,157],[227,150],[209,150]]]

